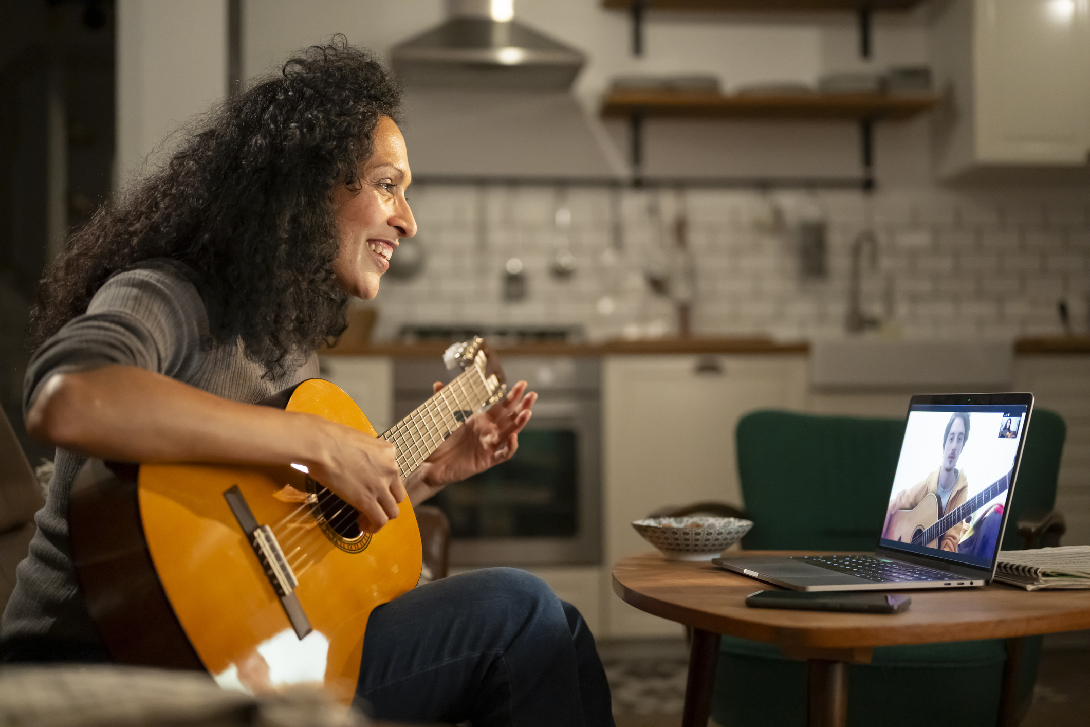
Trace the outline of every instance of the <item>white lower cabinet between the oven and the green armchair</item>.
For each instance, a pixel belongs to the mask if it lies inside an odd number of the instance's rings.
[[[664,505],[742,505],[735,426],[755,409],[802,409],[801,355],[607,356],[604,371],[605,562],[651,546],[631,521]],[[608,581],[608,579],[605,579]],[[677,635],[680,627],[625,604],[603,584],[609,637]]]

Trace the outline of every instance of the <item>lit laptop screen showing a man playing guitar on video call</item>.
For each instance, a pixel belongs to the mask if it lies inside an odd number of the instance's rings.
[[[991,569],[1028,410],[913,401],[881,545]]]

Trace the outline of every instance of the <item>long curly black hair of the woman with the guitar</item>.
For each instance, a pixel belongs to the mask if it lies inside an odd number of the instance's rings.
[[[380,117],[401,90],[365,50],[335,36],[217,106],[169,162],[75,231],[38,284],[37,348],[119,270],[168,257],[195,272],[209,344],[241,341],[277,377],[346,328],[336,184],[356,186]]]

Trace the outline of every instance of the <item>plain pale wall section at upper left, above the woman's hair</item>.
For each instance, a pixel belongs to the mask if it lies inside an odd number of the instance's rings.
[[[226,0],[118,0],[117,12],[116,189],[227,89]]]

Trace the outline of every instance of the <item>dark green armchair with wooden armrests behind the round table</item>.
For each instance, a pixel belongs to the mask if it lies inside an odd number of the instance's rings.
[[[738,423],[746,511],[723,502],[663,508],[754,521],[747,549],[871,550],[900,452],[904,420],[761,411]],[[1003,547],[1058,545],[1052,512],[1066,427],[1033,412]],[[748,512],[748,513],[747,513]],[[849,725],[1017,725],[1029,708],[1041,637],[874,650],[852,665]],[[806,666],[771,644],[723,637],[712,716],[724,727],[801,725]],[[906,707],[909,704],[911,707]]]

